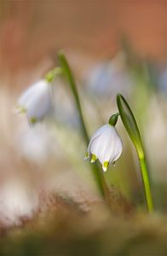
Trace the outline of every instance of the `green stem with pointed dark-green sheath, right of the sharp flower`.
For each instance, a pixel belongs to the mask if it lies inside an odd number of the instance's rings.
[[[149,212],[153,212],[153,197],[152,197],[152,192],[150,188],[150,181],[148,176],[145,153],[144,153],[143,145],[141,143],[140,131],[136,124],[134,114],[132,113],[128,102],[126,102],[126,100],[124,99],[124,96],[118,94],[117,104],[118,104],[119,114],[123,121],[124,127],[128,132],[130,139],[134,143],[137,155],[139,157],[139,161],[141,165],[141,175],[144,183],[145,195],[147,200],[147,208]]]

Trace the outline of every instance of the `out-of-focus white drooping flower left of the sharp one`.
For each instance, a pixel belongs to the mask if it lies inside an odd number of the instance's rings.
[[[20,113],[26,113],[30,123],[43,119],[52,107],[50,84],[41,79],[28,88],[17,103]]]

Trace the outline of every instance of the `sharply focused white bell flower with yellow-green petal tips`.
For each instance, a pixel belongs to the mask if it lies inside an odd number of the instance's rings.
[[[104,172],[107,171],[109,163],[114,163],[118,160],[123,150],[123,144],[114,126],[103,125],[95,131],[88,146],[88,151],[85,159],[92,154],[91,163],[99,159]]]

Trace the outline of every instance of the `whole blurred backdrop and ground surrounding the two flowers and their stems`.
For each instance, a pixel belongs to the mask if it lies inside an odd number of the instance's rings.
[[[22,91],[59,66],[59,50],[75,75],[90,136],[117,111],[118,93],[130,103],[147,152],[153,217],[120,120],[124,151],[105,173],[111,216],[83,161],[86,145],[67,84],[55,79],[51,121],[30,127],[15,113]],[[1,0],[0,97],[2,255],[166,253],[167,1]]]

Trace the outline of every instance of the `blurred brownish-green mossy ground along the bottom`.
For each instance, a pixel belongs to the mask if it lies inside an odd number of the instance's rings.
[[[43,224],[35,220],[10,230],[1,238],[0,255],[166,255],[166,217],[140,213],[122,218],[105,212],[101,207],[89,213],[71,208],[66,214],[55,212],[51,221],[42,219]]]

